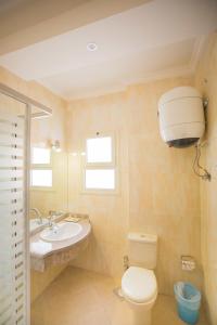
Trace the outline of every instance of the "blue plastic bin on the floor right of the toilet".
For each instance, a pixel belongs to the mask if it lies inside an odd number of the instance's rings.
[[[201,292],[190,283],[178,282],[174,286],[179,317],[194,325],[199,320]]]

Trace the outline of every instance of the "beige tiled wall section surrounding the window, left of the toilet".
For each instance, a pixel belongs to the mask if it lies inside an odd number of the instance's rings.
[[[117,195],[80,193],[80,154],[85,150],[85,139],[97,131],[114,132],[117,139],[120,179]],[[68,140],[68,206],[75,212],[87,212],[93,226],[90,245],[76,264],[110,275],[120,274],[129,206],[126,94],[117,93],[69,105]]]

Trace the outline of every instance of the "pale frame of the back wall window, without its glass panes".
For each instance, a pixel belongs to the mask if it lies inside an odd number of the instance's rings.
[[[110,162],[88,162],[87,160],[87,140],[88,139],[97,139],[97,138],[111,138],[112,139],[112,161]],[[82,156],[82,166],[81,166],[81,178],[82,178],[82,194],[97,194],[97,195],[117,195],[119,194],[119,170],[118,170],[118,156],[117,156],[117,134],[114,134],[114,132],[107,132],[107,133],[99,133],[94,132],[91,134],[88,134],[85,139],[85,155]],[[114,188],[87,188],[86,187],[86,170],[92,169],[92,170],[103,170],[103,169],[113,169],[114,170]]]

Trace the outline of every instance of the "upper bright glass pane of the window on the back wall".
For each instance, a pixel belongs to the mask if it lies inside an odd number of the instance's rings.
[[[87,140],[87,162],[112,162],[112,138]]]

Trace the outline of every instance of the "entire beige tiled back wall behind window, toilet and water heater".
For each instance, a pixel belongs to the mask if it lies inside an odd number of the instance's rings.
[[[80,154],[91,133],[115,132],[118,136],[119,195],[81,193],[81,156],[69,156],[68,205],[90,214],[91,244],[76,265],[120,276],[126,235],[130,231],[159,236],[157,280],[159,290],[173,292],[178,280],[201,287],[200,191],[192,172],[193,148],[168,148],[159,138],[157,101],[167,90],[193,84],[175,78],[129,87],[126,92],[71,102],[68,142]],[[180,269],[180,256],[192,255],[193,273]]]

